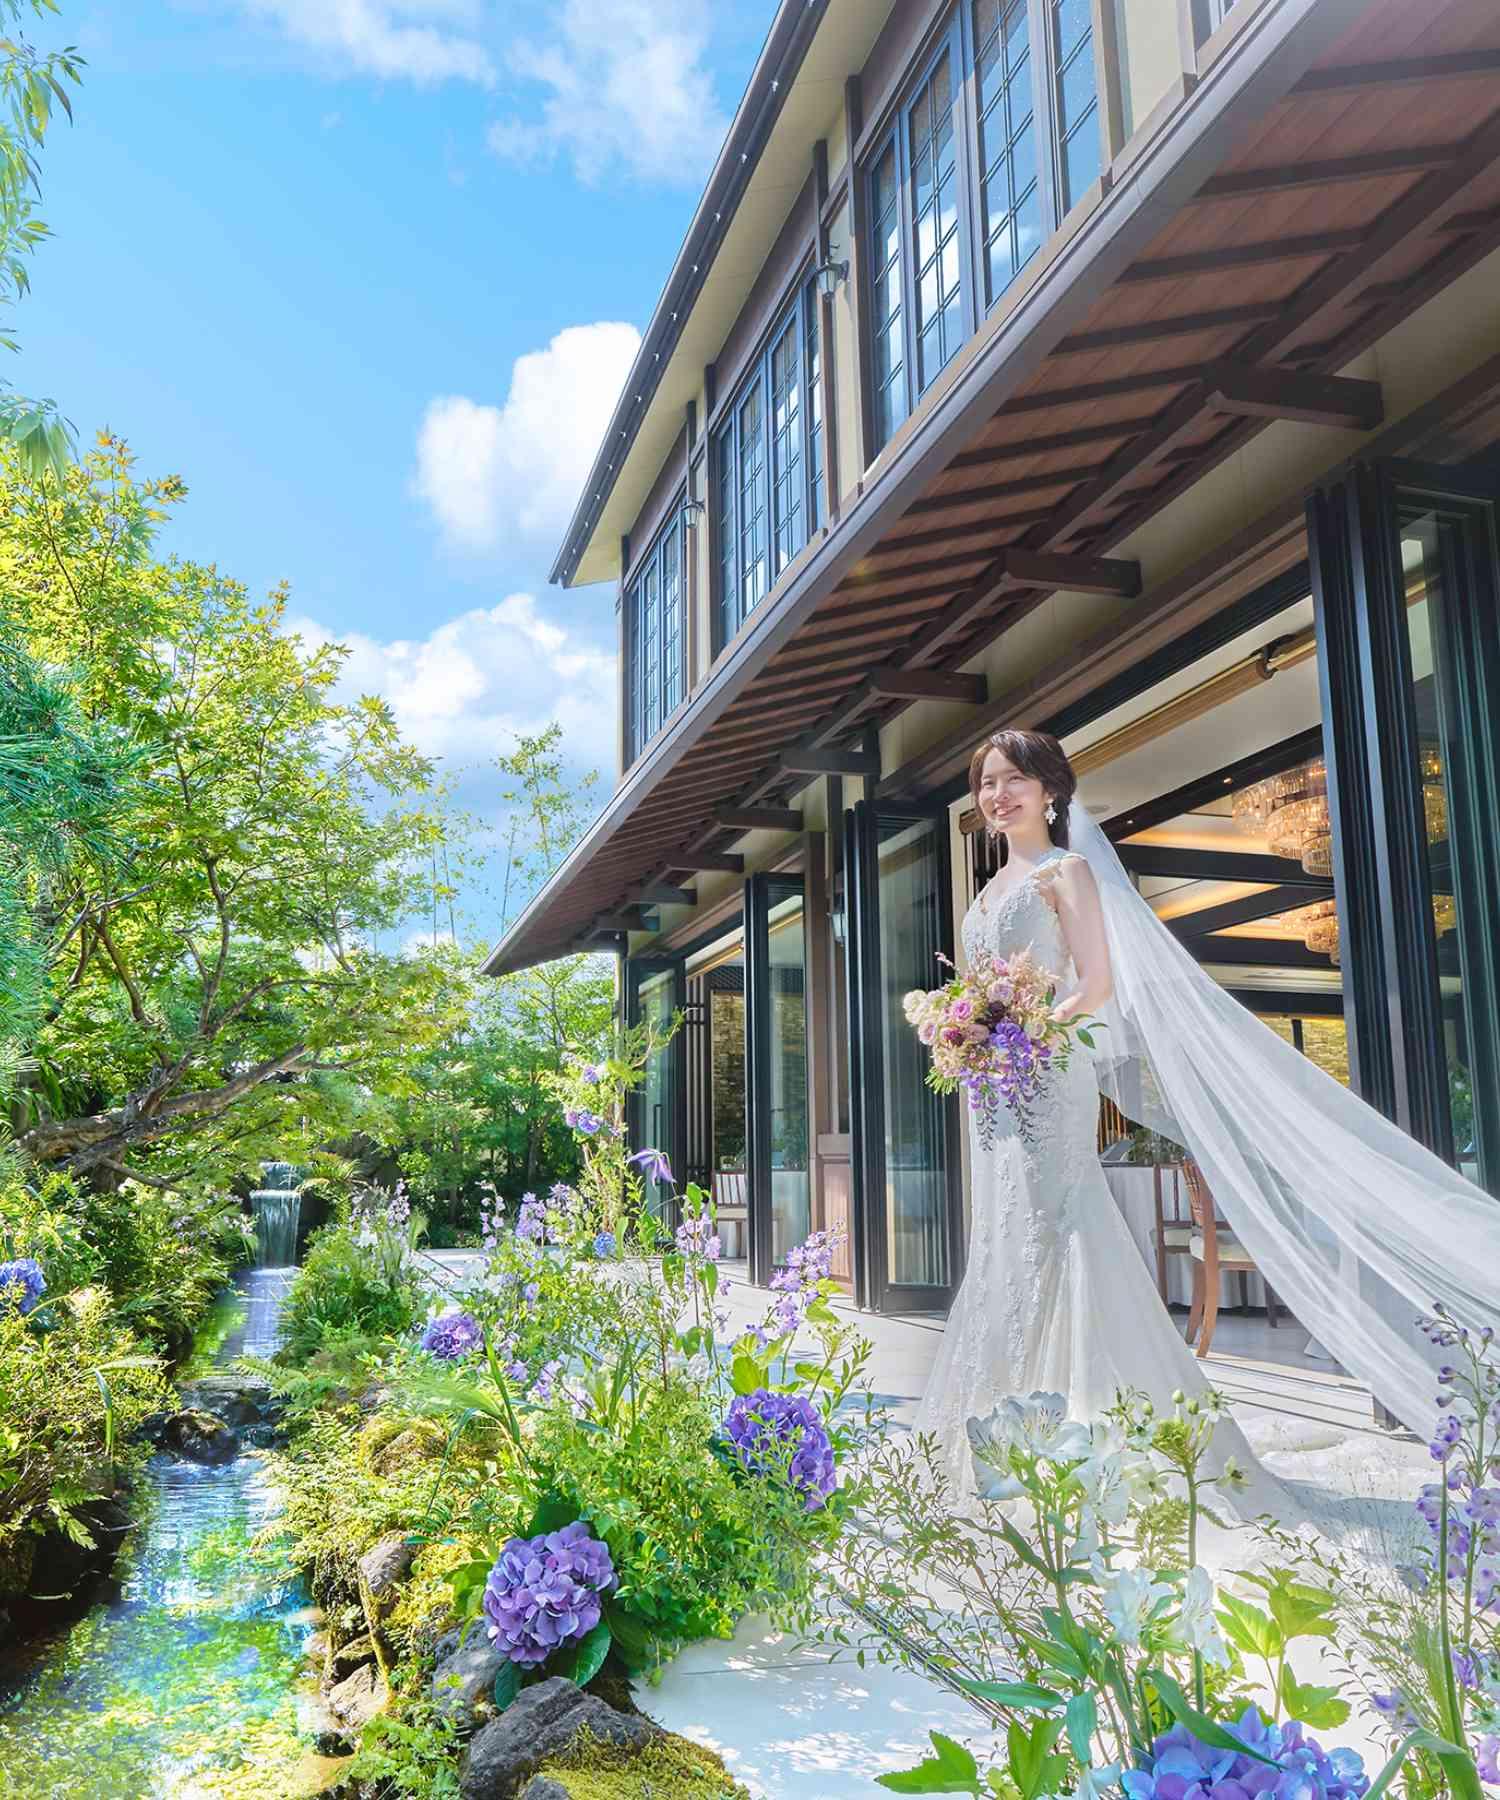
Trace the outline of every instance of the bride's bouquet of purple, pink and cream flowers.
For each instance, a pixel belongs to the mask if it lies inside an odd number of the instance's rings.
[[[981,956],[944,986],[906,995],[906,1019],[933,1051],[927,1085],[940,1094],[963,1089],[985,1145],[1001,1109],[1025,1136],[1043,1076],[1068,1067],[1073,1039],[1093,1046],[1086,1022],[1052,1017],[1055,995],[1057,977],[1030,950]]]

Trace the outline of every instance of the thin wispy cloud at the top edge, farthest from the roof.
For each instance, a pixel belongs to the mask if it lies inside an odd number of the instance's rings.
[[[241,0],[308,50],[384,81],[475,81],[495,65],[475,31],[477,0]]]

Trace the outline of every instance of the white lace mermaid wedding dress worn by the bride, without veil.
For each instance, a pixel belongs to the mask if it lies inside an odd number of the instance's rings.
[[[962,932],[971,963],[1030,947],[1068,992],[1073,967],[1044,893],[1066,857],[1052,850],[998,898],[980,895]],[[1095,1420],[1120,1388],[1170,1411],[1176,1390],[1208,1386],[1098,1165],[1098,1084],[1082,1042],[1046,1078],[1026,1139],[1001,1112],[985,1145],[971,1114],[969,1154],[969,1264],[917,1417],[917,1431],[936,1436],[958,1498],[974,1492],[967,1420],[1007,1395],[1061,1393],[1070,1418]],[[1232,1456],[1250,1478],[1232,1503],[1241,1517],[1280,1510],[1280,1489],[1237,1426],[1223,1420],[1214,1445],[1219,1467]]]

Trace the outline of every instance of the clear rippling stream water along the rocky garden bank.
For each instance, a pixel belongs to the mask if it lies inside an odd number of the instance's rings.
[[[252,1269],[214,1361],[270,1355],[294,1269]],[[265,1456],[153,1458],[117,1597],[25,1660],[0,1656],[0,1795],[198,1800],[290,1791],[308,1595],[276,1546]]]

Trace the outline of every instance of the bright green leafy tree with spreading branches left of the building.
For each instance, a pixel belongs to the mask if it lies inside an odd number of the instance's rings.
[[[182,482],[137,481],[101,437],[63,481],[0,461],[0,592],[77,715],[135,747],[128,857],[81,853],[34,896],[49,997],[20,1143],[110,1181],[223,1177],[322,1141],[400,1093],[463,1019],[423,954],[454,832],[432,767],[344,652],[304,650],[285,594],[162,562]]]

